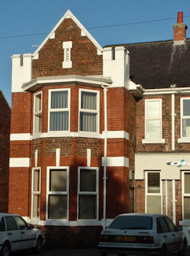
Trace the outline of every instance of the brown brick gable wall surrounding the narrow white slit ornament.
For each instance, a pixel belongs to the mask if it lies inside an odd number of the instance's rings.
[[[63,42],[72,41],[72,69],[63,69]],[[102,55],[97,55],[97,47],[71,19],[64,20],[55,32],[55,39],[49,39],[33,60],[32,77],[65,75],[102,75]]]

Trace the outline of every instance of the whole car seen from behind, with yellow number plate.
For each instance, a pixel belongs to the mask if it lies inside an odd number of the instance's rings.
[[[102,256],[185,255],[187,239],[163,214],[126,213],[100,234],[98,250]]]

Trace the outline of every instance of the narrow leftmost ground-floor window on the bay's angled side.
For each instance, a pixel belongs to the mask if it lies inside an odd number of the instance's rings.
[[[40,217],[40,191],[41,191],[41,173],[40,168],[32,169],[31,178],[31,217]]]

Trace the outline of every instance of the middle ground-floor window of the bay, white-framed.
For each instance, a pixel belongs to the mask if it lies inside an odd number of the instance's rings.
[[[68,167],[48,168],[48,219],[68,220]]]

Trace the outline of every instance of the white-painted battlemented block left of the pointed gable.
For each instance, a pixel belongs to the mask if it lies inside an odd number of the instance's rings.
[[[22,60],[23,58],[23,60]],[[23,65],[22,65],[23,62]],[[24,91],[23,83],[31,80],[31,54],[12,56],[12,92]]]

